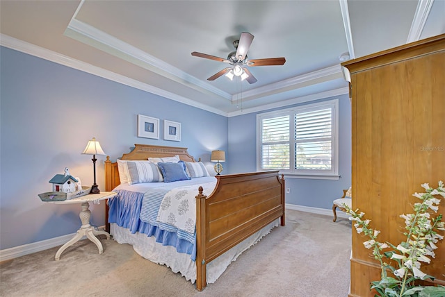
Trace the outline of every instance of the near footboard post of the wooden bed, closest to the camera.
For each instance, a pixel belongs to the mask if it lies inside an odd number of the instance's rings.
[[[202,194],[202,187],[199,187],[200,194],[196,196],[196,289],[202,291],[207,285],[206,270],[206,198]]]

